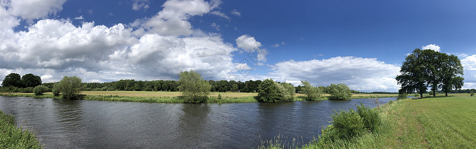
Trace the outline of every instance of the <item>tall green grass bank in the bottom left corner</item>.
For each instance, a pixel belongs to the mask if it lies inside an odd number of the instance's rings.
[[[13,116],[0,111],[0,149],[42,149],[36,135],[15,126]]]

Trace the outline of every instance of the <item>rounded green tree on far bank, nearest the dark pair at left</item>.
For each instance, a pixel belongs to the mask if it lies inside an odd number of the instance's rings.
[[[64,99],[78,99],[79,93],[84,88],[81,78],[77,76],[64,76],[58,84]]]

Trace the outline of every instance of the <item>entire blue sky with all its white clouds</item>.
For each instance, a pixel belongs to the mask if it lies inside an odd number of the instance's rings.
[[[476,88],[474,0],[0,0],[0,82],[263,80],[400,88],[408,53],[458,56]]]

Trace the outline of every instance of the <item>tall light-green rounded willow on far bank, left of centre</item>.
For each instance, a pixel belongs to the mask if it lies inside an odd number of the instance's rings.
[[[179,75],[179,89],[186,102],[203,103],[206,102],[208,94],[210,93],[211,85],[205,81],[202,74],[193,70],[190,72],[180,72]]]

